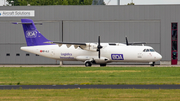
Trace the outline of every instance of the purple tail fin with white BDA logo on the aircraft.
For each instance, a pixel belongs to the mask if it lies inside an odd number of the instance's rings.
[[[38,45],[52,45],[50,40],[46,39],[37,29],[31,19],[21,19],[21,24],[24,29],[24,36],[26,39],[27,46],[38,46]]]

